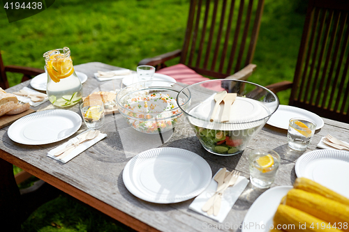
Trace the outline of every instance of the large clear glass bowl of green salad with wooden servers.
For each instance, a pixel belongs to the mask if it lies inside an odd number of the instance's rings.
[[[279,107],[279,98],[272,91],[240,80],[214,79],[192,84],[178,93],[177,100],[188,100],[188,93],[191,105],[179,108],[202,146],[216,155],[242,153]],[[218,95],[226,100],[215,100]],[[231,104],[228,97],[232,95],[235,99]]]

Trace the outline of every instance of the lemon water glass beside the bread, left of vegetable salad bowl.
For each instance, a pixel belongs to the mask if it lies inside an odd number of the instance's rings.
[[[89,129],[96,130],[103,126],[104,104],[102,100],[85,100],[80,105],[80,110]]]

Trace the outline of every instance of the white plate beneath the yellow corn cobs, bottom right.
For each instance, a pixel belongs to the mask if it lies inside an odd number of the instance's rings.
[[[273,224],[273,218],[281,199],[289,190],[292,190],[292,186],[278,186],[261,194],[247,211],[242,224],[242,232],[270,231],[270,226]]]

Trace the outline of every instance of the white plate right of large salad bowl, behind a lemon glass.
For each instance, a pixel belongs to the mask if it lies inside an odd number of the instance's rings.
[[[304,118],[313,121],[316,124],[316,130],[324,126],[324,121],[317,114],[289,105],[279,105],[279,108],[269,118],[267,124],[288,130],[288,121],[291,118]]]

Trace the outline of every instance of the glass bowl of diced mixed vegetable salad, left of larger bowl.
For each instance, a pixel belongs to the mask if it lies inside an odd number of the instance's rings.
[[[131,84],[117,94],[117,108],[128,125],[145,134],[158,134],[173,130],[183,115],[179,105],[186,109],[186,102],[176,99],[183,86],[159,80]]]

